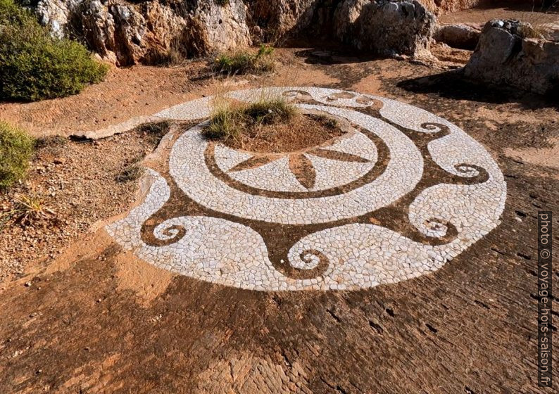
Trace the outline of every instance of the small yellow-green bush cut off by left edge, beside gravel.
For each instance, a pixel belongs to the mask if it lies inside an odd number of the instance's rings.
[[[25,177],[33,147],[34,139],[25,130],[0,120],[0,188]]]

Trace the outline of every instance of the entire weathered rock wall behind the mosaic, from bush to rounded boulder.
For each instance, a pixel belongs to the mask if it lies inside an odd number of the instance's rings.
[[[382,56],[422,56],[434,29],[418,0],[39,0],[37,13],[56,36],[83,37],[118,65],[304,34]]]

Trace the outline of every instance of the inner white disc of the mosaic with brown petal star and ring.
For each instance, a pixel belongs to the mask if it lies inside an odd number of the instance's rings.
[[[363,215],[396,201],[420,181],[422,155],[396,127],[351,109],[299,108],[339,117],[351,129],[337,141],[301,153],[255,155],[208,141],[202,123],[173,146],[170,174],[206,208],[281,224]],[[294,170],[295,158],[308,163],[311,176]]]

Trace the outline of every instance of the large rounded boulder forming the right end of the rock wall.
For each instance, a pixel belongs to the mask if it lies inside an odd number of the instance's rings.
[[[380,56],[430,56],[436,19],[417,0],[345,0],[334,13],[338,38]]]

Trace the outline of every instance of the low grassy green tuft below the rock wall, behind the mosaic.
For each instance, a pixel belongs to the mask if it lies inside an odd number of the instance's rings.
[[[244,74],[246,72],[269,72],[275,68],[274,48],[260,45],[258,52],[236,51],[222,53],[213,64],[213,70],[225,74]]]

